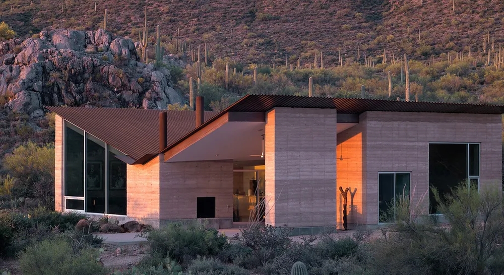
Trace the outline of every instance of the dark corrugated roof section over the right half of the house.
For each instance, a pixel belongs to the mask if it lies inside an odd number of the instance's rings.
[[[247,95],[229,106],[230,112],[265,112],[274,107],[336,108],[338,113],[366,111],[502,114],[504,106],[466,103],[406,102],[385,99],[328,98],[286,95]]]

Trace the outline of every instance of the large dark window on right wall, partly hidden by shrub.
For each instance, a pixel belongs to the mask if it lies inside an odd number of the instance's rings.
[[[480,144],[429,144],[429,208],[430,214],[439,214],[433,189],[440,199],[446,199],[459,184],[479,189]]]

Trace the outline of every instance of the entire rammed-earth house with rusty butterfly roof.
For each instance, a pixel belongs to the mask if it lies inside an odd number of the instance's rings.
[[[502,106],[247,95],[226,110],[48,107],[59,211],[154,226],[263,221],[299,233],[377,225],[407,195],[437,213],[464,182],[501,185]],[[385,215],[388,214],[388,215]]]

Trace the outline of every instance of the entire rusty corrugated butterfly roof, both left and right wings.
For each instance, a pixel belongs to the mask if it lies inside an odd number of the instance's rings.
[[[165,153],[227,113],[266,112],[275,107],[336,108],[340,114],[366,111],[502,114],[504,106],[466,103],[405,102],[383,99],[246,95],[220,113],[205,112],[205,122],[196,127],[194,111],[144,109],[46,107],[83,128],[117,150],[144,164]],[[167,112],[168,147],[159,152],[159,112]]]

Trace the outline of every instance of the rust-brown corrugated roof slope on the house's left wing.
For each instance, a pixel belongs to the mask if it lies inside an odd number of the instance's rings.
[[[159,152],[159,113],[167,113],[168,145],[196,128],[196,112],[117,108],[46,107],[110,146],[139,160]],[[217,112],[205,112],[205,121]]]

